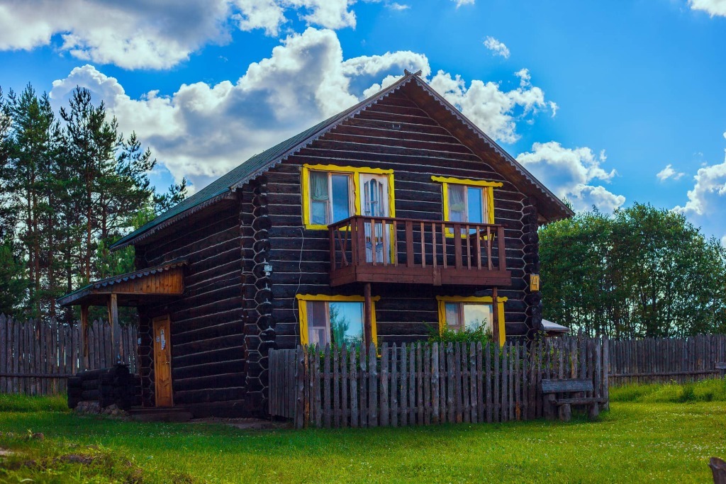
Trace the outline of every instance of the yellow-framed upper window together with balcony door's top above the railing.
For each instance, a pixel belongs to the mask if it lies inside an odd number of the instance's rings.
[[[393,170],[303,165],[303,223],[327,229],[354,215],[396,216]]]

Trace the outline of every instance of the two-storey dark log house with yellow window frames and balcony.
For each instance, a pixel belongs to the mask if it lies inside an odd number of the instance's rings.
[[[123,237],[137,271],[60,302],[138,308],[144,406],[259,415],[270,348],[531,337],[537,228],[571,215],[406,72]]]

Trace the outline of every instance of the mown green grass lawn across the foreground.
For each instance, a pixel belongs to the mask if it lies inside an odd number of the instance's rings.
[[[21,411],[20,398],[0,398],[0,448],[17,452],[0,457],[0,482],[711,482],[709,457],[726,456],[726,402],[633,393],[613,390],[629,401],[597,422],[304,431]]]

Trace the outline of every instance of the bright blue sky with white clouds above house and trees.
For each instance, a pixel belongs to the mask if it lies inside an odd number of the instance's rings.
[[[0,86],[104,99],[194,189],[422,69],[578,209],[726,244],[726,0],[0,0]]]

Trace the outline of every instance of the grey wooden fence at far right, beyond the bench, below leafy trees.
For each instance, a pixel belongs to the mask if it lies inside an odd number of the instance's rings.
[[[688,382],[719,376],[726,335],[610,340],[611,385]]]

